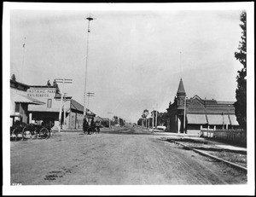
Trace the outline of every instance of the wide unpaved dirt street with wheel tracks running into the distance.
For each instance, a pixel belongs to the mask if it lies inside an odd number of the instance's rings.
[[[245,184],[247,175],[135,127],[11,142],[11,183]]]

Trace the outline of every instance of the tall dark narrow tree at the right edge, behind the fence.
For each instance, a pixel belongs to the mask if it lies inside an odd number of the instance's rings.
[[[247,13],[241,12],[241,41],[239,42],[238,51],[235,52],[236,60],[241,62],[242,68],[236,76],[236,102],[235,113],[236,119],[242,129],[247,129]]]

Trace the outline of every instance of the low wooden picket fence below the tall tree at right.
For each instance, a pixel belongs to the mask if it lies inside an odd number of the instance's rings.
[[[247,144],[247,132],[245,130],[201,130],[200,136]]]

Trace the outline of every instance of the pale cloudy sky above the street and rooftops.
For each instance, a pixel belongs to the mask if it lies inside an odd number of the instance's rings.
[[[241,9],[12,9],[9,76],[30,85],[72,78],[64,92],[83,104],[89,14],[86,92],[97,115],[164,113],[180,78],[188,97],[236,101]]]

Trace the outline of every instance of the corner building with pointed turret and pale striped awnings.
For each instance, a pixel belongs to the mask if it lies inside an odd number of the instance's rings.
[[[198,136],[200,130],[235,129],[239,126],[234,102],[201,99],[196,95],[187,99],[182,79],[167,113],[167,130],[171,132]]]

